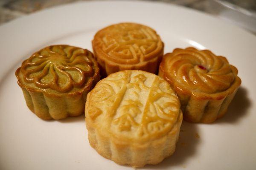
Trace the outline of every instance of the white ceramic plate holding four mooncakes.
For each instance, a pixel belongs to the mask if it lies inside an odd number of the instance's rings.
[[[145,1],[73,3],[0,26],[0,169],[132,169],[103,158],[90,147],[84,116],[60,121],[35,116],[15,77],[21,62],[44,46],[69,44],[90,50],[98,29],[124,21],[156,29],[165,52],[195,46],[226,56],[242,79],[223,119],[210,125],[183,122],[174,155],[143,169],[254,169],[256,37],[198,11]]]

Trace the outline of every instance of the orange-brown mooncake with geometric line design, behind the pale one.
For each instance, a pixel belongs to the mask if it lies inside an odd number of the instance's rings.
[[[98,31],[93,53],[104,76],[121,70],[157,73],[163,42],[152,28],[137,23],[119,23]]]

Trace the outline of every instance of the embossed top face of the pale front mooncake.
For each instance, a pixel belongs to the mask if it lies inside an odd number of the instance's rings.
[[[95,86],[87,102],[95,125],[104,122],[99,126],[135,141],[165,135],[180,115],[180,102],[168,82],[145,71],[111,74]]]

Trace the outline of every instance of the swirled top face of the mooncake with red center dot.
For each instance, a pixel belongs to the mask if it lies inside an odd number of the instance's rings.
[[[195,93],[225,91],[237,74],[236,68],[226,58],[195,48],[176,48],[172,54],[166,55],[162,66],[166,67],[166,78]]]

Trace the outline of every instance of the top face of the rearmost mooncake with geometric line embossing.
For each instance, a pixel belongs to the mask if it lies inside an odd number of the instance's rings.
[[[100,30],[94,37],[93,48],[112,62],[132,65],[159,57],[163,42],[147,26],[120,23]]]

